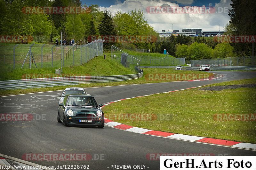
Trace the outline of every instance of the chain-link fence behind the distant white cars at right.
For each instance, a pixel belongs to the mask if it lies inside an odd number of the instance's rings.
[[[255,66],[256,56],[227,57],[227,58],[190,60],[190,61],[191,61],[191,67],[199,67],[202,64],[209,65],[210,67]]]

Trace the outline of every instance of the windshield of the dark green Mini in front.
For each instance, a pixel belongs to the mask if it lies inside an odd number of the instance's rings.
[[[93,97],[79,97],[79,96],[69,96],[67,100],[67,106],[95,106],[97,103]]]

